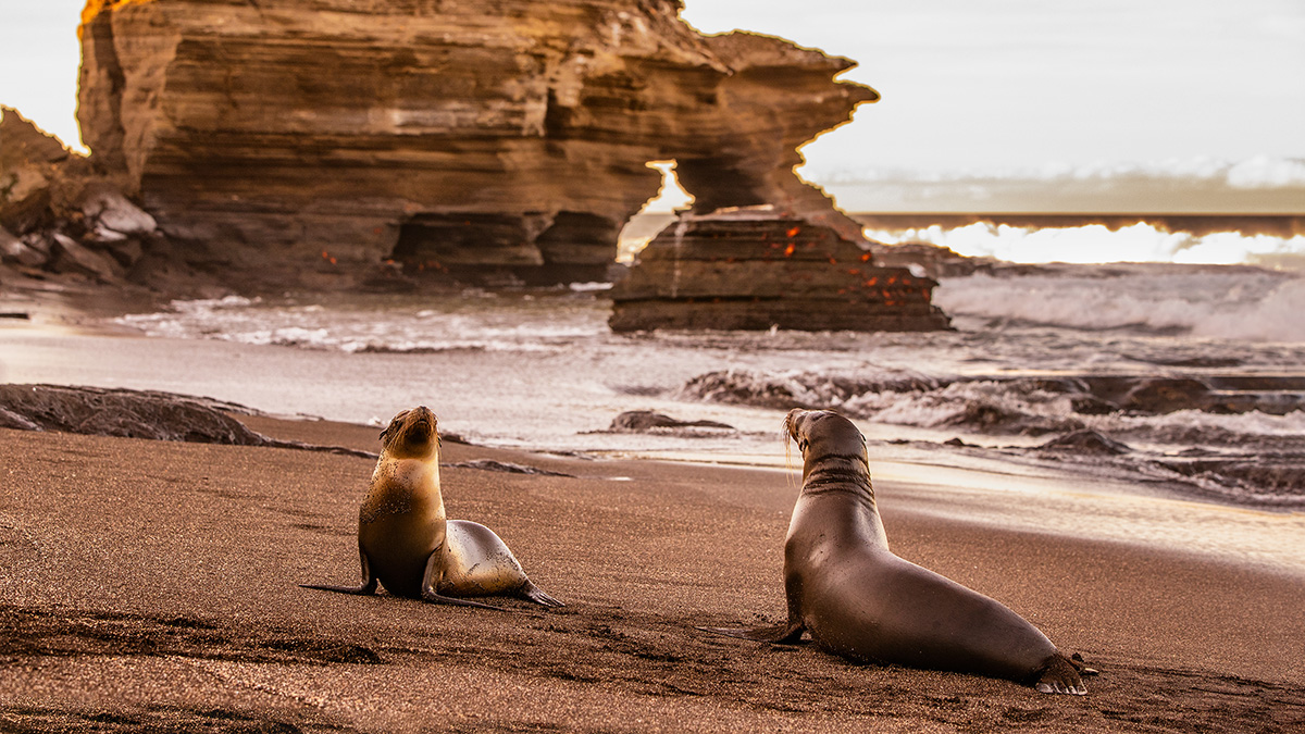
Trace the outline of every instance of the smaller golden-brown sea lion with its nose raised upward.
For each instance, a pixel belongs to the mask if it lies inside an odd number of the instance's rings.
[[[399,413],[381,432],[381,444],[371,487],[358,511],[363,584],[300,586],[373,594],[381,584],[394,596],[435,603],[501,609],[461,597],[508,596],[564,606],[526,577],[493,530],[445,519],[435,413],[424,405]]]

